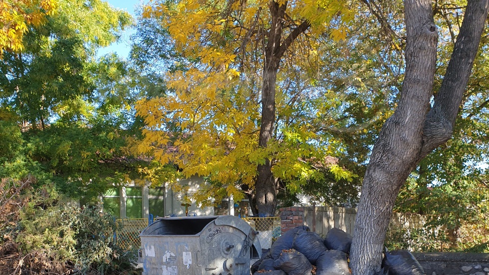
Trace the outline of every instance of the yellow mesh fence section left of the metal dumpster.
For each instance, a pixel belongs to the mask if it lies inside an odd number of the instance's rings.
[[[148,226],[148,219],[119,219],[116,223],[117,244],[125,250],[141,248],[139,234]]]

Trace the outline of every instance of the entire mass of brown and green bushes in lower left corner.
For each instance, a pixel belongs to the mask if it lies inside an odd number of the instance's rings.
[[[3,191],[12,190],[7,182],[13,181],[3,179]],[[9,267],[1,274],[87,274],[93,270],[129,274],[137,258],[135,252],[123,251],[114,242],[113,217],[93,208],[62,205],[53,186],[33,189],[26,180],[14,187],[16,195],[1,201],[2,213],[10,216],[10,222],[0,227],[0,262]],[[12,205],[18,208],[4,207]]]

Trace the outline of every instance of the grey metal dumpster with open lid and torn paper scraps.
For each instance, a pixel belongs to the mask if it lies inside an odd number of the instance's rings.
[[[143,275],[249,275],[257,234],[234,216],[158,218],[139,235]]]

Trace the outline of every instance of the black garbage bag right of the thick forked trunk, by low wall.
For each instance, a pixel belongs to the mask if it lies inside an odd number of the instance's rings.
[[[385,251],[382,268],[389,275],[424,275],[425,271],[411,252],[407,250]]]

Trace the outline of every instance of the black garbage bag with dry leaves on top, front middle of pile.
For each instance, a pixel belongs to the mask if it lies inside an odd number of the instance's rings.
[[[293,249],[283,250],[273,262],[273,267],[283,270],[287,275],[310,275],[312,271],[312,265],[304,254]]]

